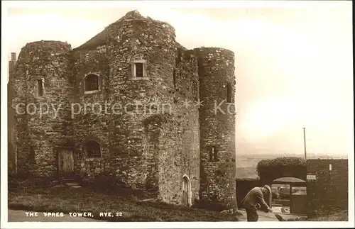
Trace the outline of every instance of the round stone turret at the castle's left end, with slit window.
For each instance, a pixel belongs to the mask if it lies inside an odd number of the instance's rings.
[[[21,172],[38,176],[55,174],[58,169],[55,145],[67,143],[67,136],[72,135],[67,80],[70,49],[67,43],[42,40],[28,43],[18,57],[13,79],[16,91],[13,108],[17,111],[18,169]],[[44,81],[44,94],[40,97],[38,79]]]

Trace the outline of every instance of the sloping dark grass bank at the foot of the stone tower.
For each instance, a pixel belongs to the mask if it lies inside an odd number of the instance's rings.
[[[158,202],[140,202],[126,192],[104,194],[87,188],[18,186],[9,188],[9,208],[38,212],[91,212],[108,221],[238,221],[236,216]],[[100,212],[114,217],[100,218]],[[116,213],[122,216],[116,217]]]

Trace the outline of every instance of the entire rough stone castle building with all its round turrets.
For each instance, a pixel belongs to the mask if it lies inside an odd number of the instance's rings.
[[[133,60],[146,62],[146,78],[132,78]],[[197,60],[211,67],[199,66]],[[99,76],[99,90],[92,94],[84,92],[87,74]],[[224,82],[234,85],[232,52],[187,50],[175,41],[175,29],[168,23],[131,11],[73,50],[54,41],[27,44],[11,79],[16,88],[13,108],[40,102],[35,96],[38,76],[45,78],[41,101],[66,108],[55,119],[16,116],[22,171],[55,174],[57,148],[65,145],[73,147],[74,172],[83,179],[104,174],[161,201],[180,204],[185,176],[190,179],[192,202],[203,197],[235,206],[234,115],[210,113],[214,97],[225,96]],[[205,108],[197,106],[199,99]],[[85,104],[97,104],[103,112],[86,110]],[[87,157],[83,147],[87,140],[100,144],[101,157]],[[219,145],[219,162],[206,161],[205,151],[212,143]],[[28,159],[31,146],[35,160]]]

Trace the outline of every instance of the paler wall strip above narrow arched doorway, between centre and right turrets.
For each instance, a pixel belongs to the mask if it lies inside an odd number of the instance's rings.
[[[192,51],[180,46],[175,59],[173,84],[175,110],[163,123],[159,141],[159,197],[165,202],[180,204],[185,175],[190,180],[194,203],[200,199],[197,61]]]

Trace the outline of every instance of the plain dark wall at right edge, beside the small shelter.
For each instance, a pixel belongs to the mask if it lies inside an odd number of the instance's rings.
[[[329,171],[332,164],[332,171]],[[308,218],[348,210],[348,160],[307,160]]]

